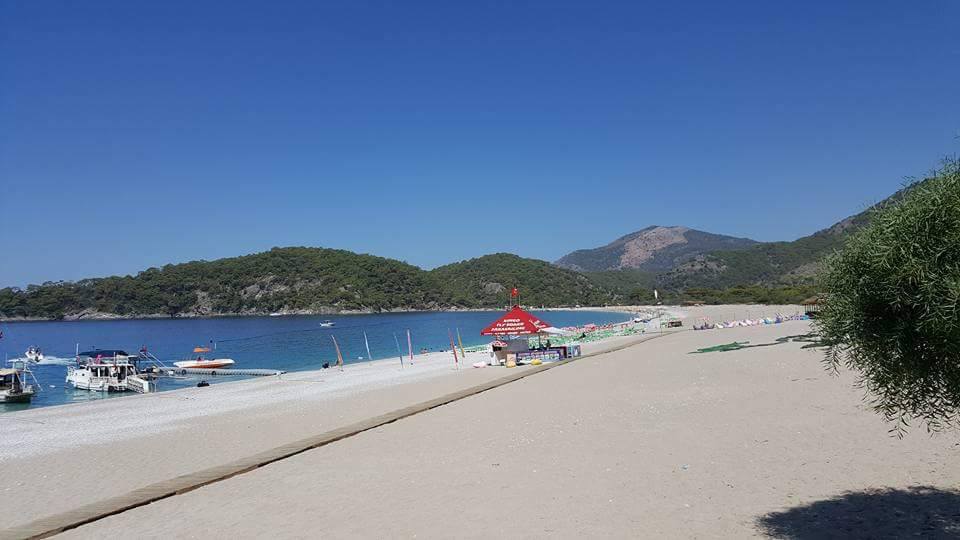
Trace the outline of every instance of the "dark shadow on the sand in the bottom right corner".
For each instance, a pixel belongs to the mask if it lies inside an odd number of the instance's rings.
[[[960,538],[960,491],[932,487],[847,492],[757,519],[773,538]]]

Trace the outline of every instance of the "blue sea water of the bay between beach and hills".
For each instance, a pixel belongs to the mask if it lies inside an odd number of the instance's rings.
[[[590,311],[534,312],[553,326],[598,325],[623,322],[625,313]],[[0,323],[0,358],[22,357],[27,347],[37,345],[47,363],[33,367],[42,391],[30,405],[0,404],[0,412],[29,407],[60,405],[77,401],[120,397],[129,394],[105,394],[74,390],[64,383],[66,364],[80,350],[123,349],[135,354],[146,346],[167,365],[189,358],[193,348],[216,346],[211,357],[227,357],[236,368],[266,368],[285,371],[319,369],[324,362],[336,362],[331,335],[336,336],[347,363],[369,360],[363,332],[370,341],[374,359],[396,358],[397,341],[407,351],[409,329],[415,353],[450,348],[447,331],[460,329],[465,347],[482,345],[490,338],[480,330],[502,312],[428,312],[384,313],[340,316],[224,317],[211,319],[155,319],[123,321]],[[321,328],[320,321],[331,319],[333,328]],[[206,377],[211,383],[234,380],[233,377]],[[195,386],[200,377],[163,378],[160,390]]]

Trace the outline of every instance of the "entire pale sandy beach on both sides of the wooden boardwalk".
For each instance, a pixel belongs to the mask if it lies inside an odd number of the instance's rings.
[[[746,311],[684,310],[688,320]],[[638,343],[63,536],[960,534],[950,528],[960,526],[951,491],[960,434],[915,427],[891,437],[850,374],[827,374],[802,342],[776,341],[809,328],[793,321],[590,344],[588,353]],[[776,344],[690,354],[733,341]],[[456,372],[444,354],[415,363],[407,379],[398,369],[374,362],[0,415],[5,526],[512,371]]]

